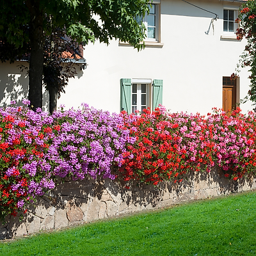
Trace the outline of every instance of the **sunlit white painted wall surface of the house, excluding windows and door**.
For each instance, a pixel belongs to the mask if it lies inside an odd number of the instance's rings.
[[[163,47],[146,47],[138,52],[113,40],[104,45],[88,44],[84,58],[88,67],[70,82],[58,106],[78,108],[82,102],[97,109],[120,111],[120,79],[163,79],[163,105],[173,112],[206,114],[222,107],[222,77],[230,76],[243,52],[245,41],[221,40],[223,7],[239,6],[219,0],[189,0],[217,13],[209,35],[212,13],[204,12],[181,0],[161,0],[161,42]],[[2,66],[1,66],[2,67]],[[248,72],[240,76],[240,99],[249,90]],[[3,83],[2,83],[3,84]],[[0,83],[0,86],[1,83]],[[1,88],[2,90],[2,88]],[[250,102],[241,105],[252,109]]]

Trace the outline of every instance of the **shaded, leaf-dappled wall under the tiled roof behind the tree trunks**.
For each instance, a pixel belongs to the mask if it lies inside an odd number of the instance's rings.
[[[12,100],[22,106],[22,99],[28,99],[28,73],[21,71],[19,65],[28,67],[28,63],[15,61],[15,63],[0,63],[0,107],[6,108]],[[43,91],[43,111],[49,108],[48,92]]]

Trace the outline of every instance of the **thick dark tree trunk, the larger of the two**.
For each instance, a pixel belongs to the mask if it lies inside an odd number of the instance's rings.
[[[40,0],[27,0],[31,14],[29,28],[29,39],[31,54],[29,60],[29,92],[31,108],[42,108],[42,77],[44,67],[44,33],[43,33],[43,11],[40,10]]]

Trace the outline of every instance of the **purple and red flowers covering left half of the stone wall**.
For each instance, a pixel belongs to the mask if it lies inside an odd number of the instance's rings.
[[[24,100],[24,103],[29,104]],[[16,215],[60,178],[115,179],[125,145],[122,117],[89,108],[55,111],[0,108],[0,218]]]

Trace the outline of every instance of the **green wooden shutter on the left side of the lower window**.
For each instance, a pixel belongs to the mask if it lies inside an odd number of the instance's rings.
[[[125,110],[128,114],[131,114],[132,108],[132,79],[122,78],[120,79],[121,85],[121,110]]]

